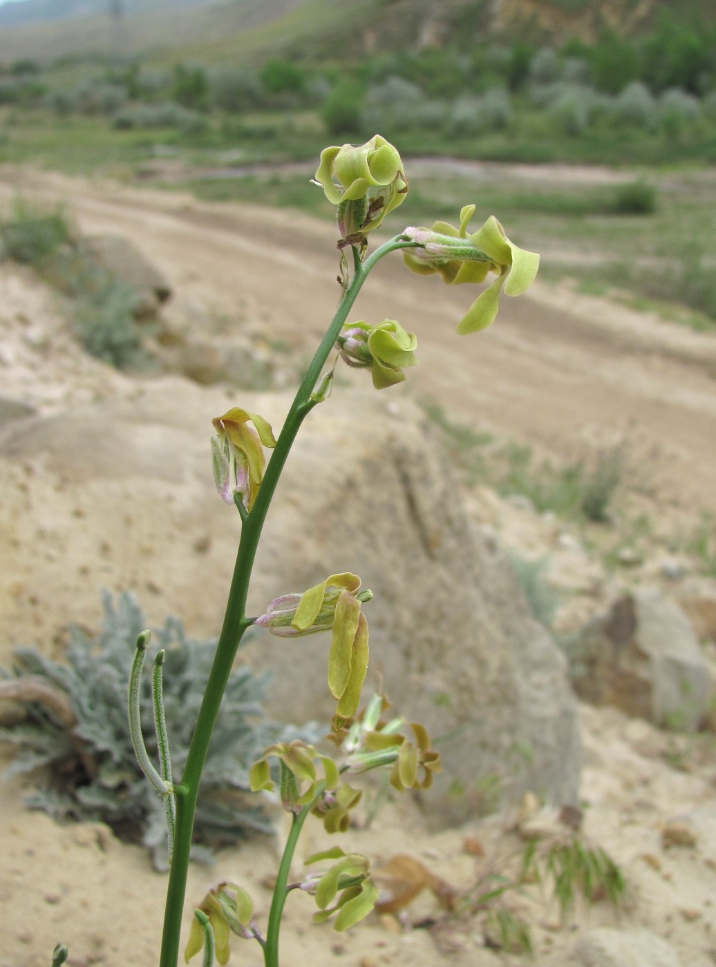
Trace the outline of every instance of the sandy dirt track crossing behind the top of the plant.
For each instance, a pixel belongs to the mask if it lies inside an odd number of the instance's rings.
[[[319,336],[335,308],[334,232],[322,222],[6,172],[0,192],[18,189],[63,199],[86,232],[128,236],[178,295],[229,313],[241,306],[277,338]],[[633,481],[662,507],[716,511],[716,338],[539,282],[503,297],[488,332],[456,337],[471,298],[467,287],[409,274],[394,255],[353,317],[397,318],[414,331],[421,366],[410,387],[456,418],[566,460],[623,442]]]

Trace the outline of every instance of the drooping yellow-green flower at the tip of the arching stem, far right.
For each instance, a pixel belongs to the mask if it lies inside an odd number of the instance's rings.
[[[497,278],[481,292],[458,325],[458,333],[477,333],[487,329],[497,314],[499,294],[519,296],[534,281],[540,256],[514,245],[494,216],[476,232],[468,233],[467,223],[475,213],[465,205],[460,227],[436,221],[433,228],[406,228],[403,238],[416,243],[403,251],[405,265],[422,276],[437,273],[448,285],[484,282],[491,272]]]

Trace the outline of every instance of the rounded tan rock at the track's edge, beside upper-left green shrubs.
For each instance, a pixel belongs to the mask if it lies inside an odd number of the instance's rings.
[[[134,314],[152,315],[171,295],[168,282],[146,256],[122,235],[88,235],[80,254],[136,292]]]

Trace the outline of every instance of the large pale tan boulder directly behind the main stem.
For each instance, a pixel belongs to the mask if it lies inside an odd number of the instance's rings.
[[[239,518],[211,480],[210,420],[239,402],[277,428],[289,401],[229,400],[164,378],[11,425],[0,473],[24,489],[0,532],[15,560],[14,590],[0,597],[6,633],[27,642],[43,632],[48,645],[58,622],[92,624],[101,586],[134,590],[154,622],[172,611],[217,633]],[[438,743],[435,813],[462,818],[486,779],[515,798],[532,789],[574,802],[580,740],[566,662],[505,556],[471,528],[433,426],[400,393],[341,388],[313,411],[266,521],[250,613],[345,570],[375,593],[369,683],[380,673],[396,709]],[[327,646],[324,634],[256,631],[240,657],[274,669],[275,714],[329,717]]]

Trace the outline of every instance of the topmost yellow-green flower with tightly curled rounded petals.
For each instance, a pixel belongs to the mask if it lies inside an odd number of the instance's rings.
[[[407,193],[401,156],[380,134],[365,144],[324,148],[314,182],[338,205],[343,240],[352,244],[377,228]]]

